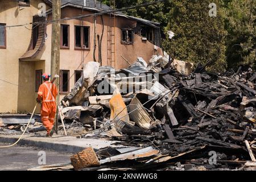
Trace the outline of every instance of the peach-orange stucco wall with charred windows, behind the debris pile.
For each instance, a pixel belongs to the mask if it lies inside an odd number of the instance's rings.
[[[61,18],[73,17],[78,15],[92,14],[90,11],[82,11],[74,7],[65,7],[61,9]],[[108,48],[108,26],[113,24],[113,19],[109,15],[102,15],[104,24],[104,35],[102,38],[101,56],[102,65],[109,65],[107,60],[107,48]],[[51,19],[51,15],[48,16],[48,20]],[[73,19],[64,20],[61,24],[69,24],[69,49],[60,50],[60,69],[69,70],[69,90],[73,88],[75,84],[75,71],[81,70],[82,68],[82,57],[84,57],[84,63],[93,61],[93,49],[94,49],[94,17],[86,17],[83,20]],[[137,22],[120,16],[116,16],[116,28],[115,28],[115,52],[116,52],[116,63],[115,68],[127,68],[129,64],[122,59],[121,55],[126,57],[130,63],[134,63],[137,57],[142,57],[148,61],[150,57],[156,53],[162,54],[162,49],[155,51],[154,45],[148,41],[143,41],[141,36],[134,35],[133,44],[121,43],[121,28],[135,28]],[[90,46],[89,49],[81,51],[75,49],[75,26],[89,26],[90,27]],[[101,37],[102,35],[102,20],[101,16],[97,16],[96,35]],[[44,50],[36,56],[38,60],[46,60],[46,72],[51,71],[51,24],[47,24],[47,40],[44,46]],[[98,39],[96,39],[96,61],[98,61]],[[60,98],[63,98],[65,94],[60,94]]]

